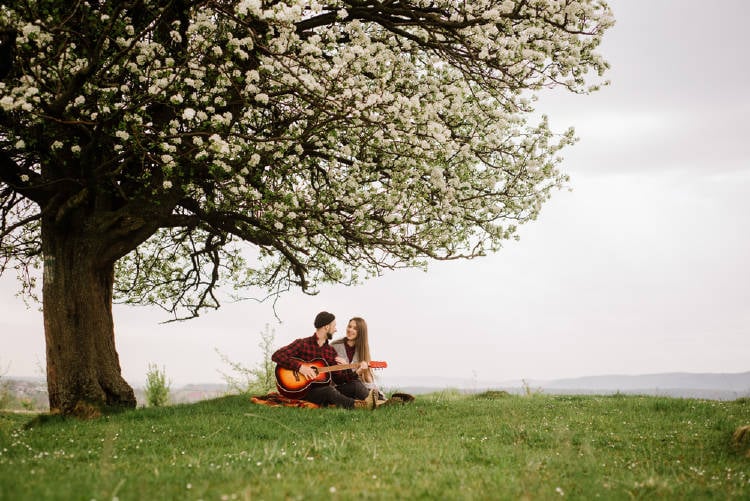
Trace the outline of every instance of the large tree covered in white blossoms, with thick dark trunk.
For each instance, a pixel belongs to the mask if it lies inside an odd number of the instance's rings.
[[[566,182],[545,87],[600,0],[9,0],[0,272],[43,267],[53,412],[132,407],[112,301],[175,317],[496,250]]]

